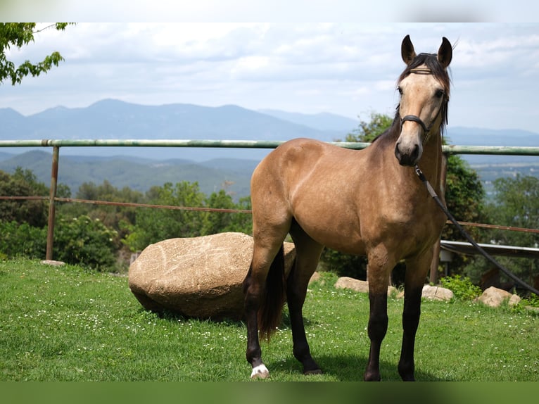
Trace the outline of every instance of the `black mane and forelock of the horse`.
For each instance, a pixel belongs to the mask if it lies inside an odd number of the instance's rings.
[[[438,56],[436,55],[436,53],[419,53],[419,55],[414,58],[412,63],[410,63],[410,65],[407,65],[405,70],[400,73],[397,83],[400,83],[405,77],[412,74],[413,69],[419,68],[419,66],[421,65],[426,65],[426,68],[431,70],[431,74],[436,77],[436,79],[443,85],[443,89],[445,91],[445,99],[442,103],[442,111],[440,111],[440,114],[443,117],[442,125],[440,126],[440,132],[443,134],[445,131],[445,125],[448,124],[448,102],[451,79],[448,70],[444,69],[442,65],[440,65],[440,63],[438,62]],[[381,137],[391,135],[396,136],[398,134],[398,129],[400,129],[399,107],[400,104],[396,108],[395,118],[393,119],[391,127],[389,127],[388,130],[375,137],[373,143]]]

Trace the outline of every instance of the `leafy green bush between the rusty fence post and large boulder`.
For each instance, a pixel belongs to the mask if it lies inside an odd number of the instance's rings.
[[[87,215],[58,217],[54,228],[53,258],[95,270],[111,270],[115,264],[117,236],[101,220]]]

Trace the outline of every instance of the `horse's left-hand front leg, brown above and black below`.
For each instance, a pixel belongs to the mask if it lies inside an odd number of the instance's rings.
[[[388,283],[393,263],[383,248],[369,253],[367,280],[369,281],[369,325],[367,332],[371,340],[369,361],[364,373],[365,381],[379,381],[380,347],[388,330]]]

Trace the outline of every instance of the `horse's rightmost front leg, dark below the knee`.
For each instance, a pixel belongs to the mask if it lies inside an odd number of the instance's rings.
[[[406,261],[405,302],[402,310],[402,348],[398,365],[400,377],[405,381],[415,380],[415,336],[421,316],[421,293],[432,255],[433,251],[430,250],[419,258]]]

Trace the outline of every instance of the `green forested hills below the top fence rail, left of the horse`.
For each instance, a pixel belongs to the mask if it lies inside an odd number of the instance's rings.
[[[32,170],[39,182],[51,183],[52,154],[43,150],[27,151],[0,159],[0,170]],[[250,194],[249,182],[258,160],[217,159],[196,163],[191,160],[151,160],[129,156],[61,156],[58,182],[68,185],[75,196],[84,182],[102,184],[104,180],[122,189],[147,191],[165,182],[198,182],[205,194],[225,189],[234,199]]]

